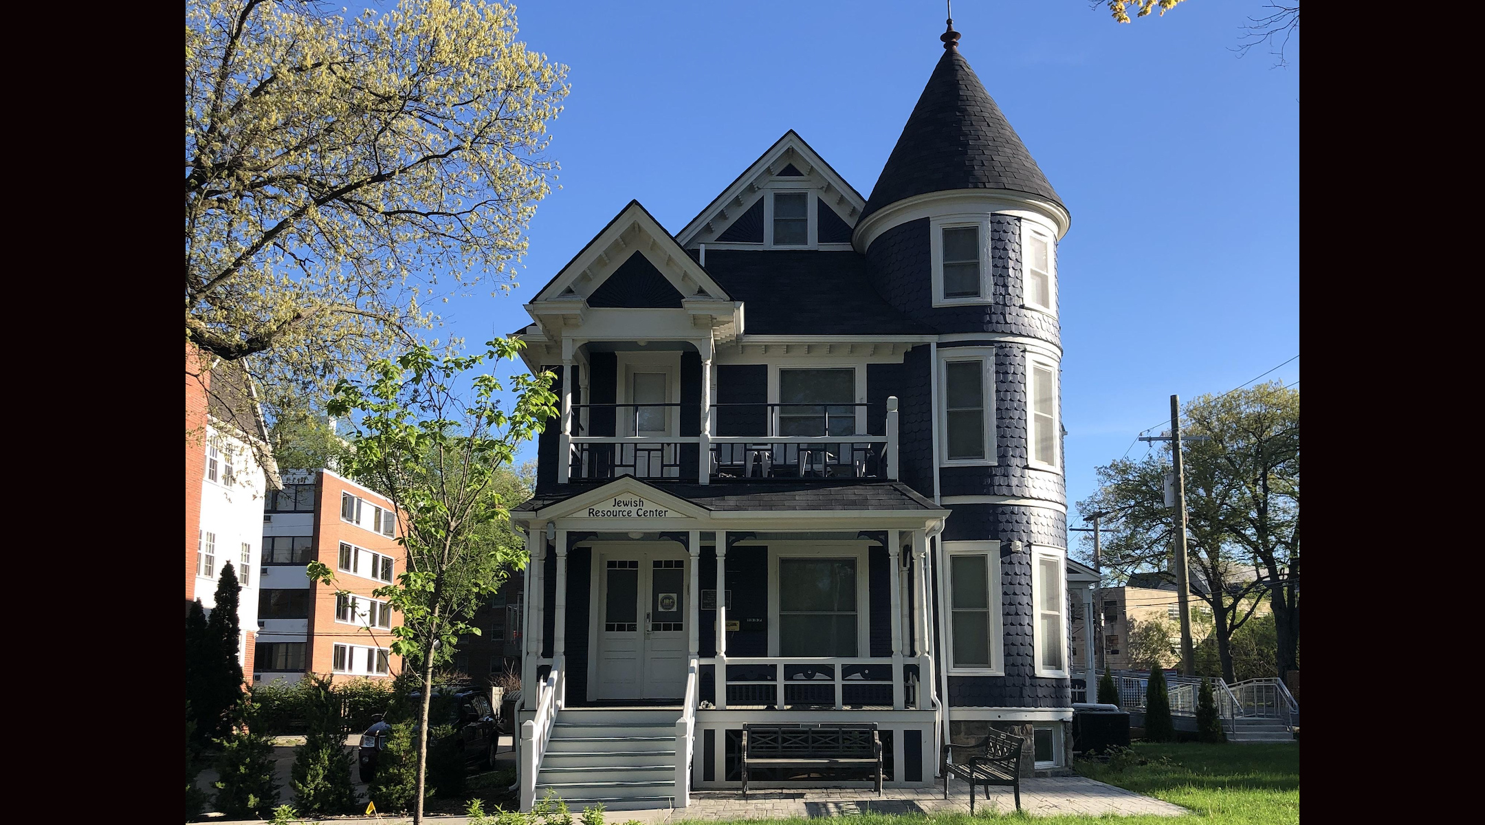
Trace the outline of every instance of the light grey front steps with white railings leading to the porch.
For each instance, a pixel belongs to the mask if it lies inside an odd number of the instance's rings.
[[[679,720],[679,709],[560,711],[536,800],[551,791],[575,813],[597,803],[606,810],[673,807]]]

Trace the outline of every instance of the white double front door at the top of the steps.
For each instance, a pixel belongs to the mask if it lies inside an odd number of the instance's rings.
[[[597,550],[595,699],[686,693],[691,561],[674,545]]]

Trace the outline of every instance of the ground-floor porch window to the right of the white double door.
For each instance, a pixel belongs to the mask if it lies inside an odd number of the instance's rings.
[[[857,656],[857,559],[778,559],[778,654]]]

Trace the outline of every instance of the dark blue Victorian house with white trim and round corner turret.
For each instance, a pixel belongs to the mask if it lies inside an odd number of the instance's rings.
[[[790,131],[527,304],[561,417],[512,513],[523,806],[738,788],[748,723],[875,723],[888,786],[990,726],[1065,763],[1069,217],[943,40],[869,197]],[[849,783],[753,772],[800,780]]]

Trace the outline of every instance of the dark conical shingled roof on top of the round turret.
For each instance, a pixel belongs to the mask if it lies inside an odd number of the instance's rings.
[[[968,61],[946,49],[861,218],[904,197],[955,188],[1007,188],[1062,205]]]

